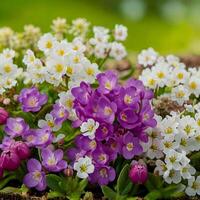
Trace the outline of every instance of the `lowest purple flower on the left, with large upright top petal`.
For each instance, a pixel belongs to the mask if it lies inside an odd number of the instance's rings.
[[[28,188],[36,188],[38,191],[46,189],[45,173],[42,171],[40,162],[36,159],[30,159],[27,163],[28,174],[24,177],[24,184]]]

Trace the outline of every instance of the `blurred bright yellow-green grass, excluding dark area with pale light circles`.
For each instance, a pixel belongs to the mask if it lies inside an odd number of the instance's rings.
[[[95,0],[0,0],[0,26],[11,26],[17,31],[24,24],[40,26],[48,31],[52,19],[65,17],[69,21],[87,18],[92,24],[112,28],[122,23],[129,28],[126,46],[138,52],[149,46],[161,53],[198,53],[200,29],[189,22],[170,24],[154,14],[140,22],[133,22],[120,16],[117,6],[111,9],[106,1]],[[109,2],[109,0],[107,0]],[[104,3],[104,5],[103,5]]]

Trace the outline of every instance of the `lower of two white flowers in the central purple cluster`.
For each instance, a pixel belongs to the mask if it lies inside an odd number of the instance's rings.
[[[88,156],[79,158],[74,163],[74,170],[77,171],[77,176],[79,178],[87,178],[89,174],[94,172],[94,165],[92,164],[91,158]]]

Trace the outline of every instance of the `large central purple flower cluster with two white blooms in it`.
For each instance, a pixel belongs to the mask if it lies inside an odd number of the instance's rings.
[[[145,130],[156,121],[150,105],[153,94],[141,81],[130,79],[122,86],[113,71],[98,74],[97,80],[96,89],[81,82],[71,90],[77,114],[73,126],[80,127],[81,134],[68,156],[77,176],[105,185],[115,179],[111,163],[118,155],[129,160],[143,153]]]

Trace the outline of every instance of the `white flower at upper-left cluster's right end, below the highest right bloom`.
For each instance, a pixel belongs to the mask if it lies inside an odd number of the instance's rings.
[[[111,46],[110,56],[113,57],[114,59],[122,60],[127,55],[126,50],[121,43],[112,42],[110,46]]]

